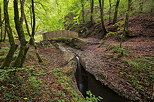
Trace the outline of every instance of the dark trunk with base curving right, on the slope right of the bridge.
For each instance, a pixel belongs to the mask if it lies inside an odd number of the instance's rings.
[[[104,0],[99,0],[99,7],[100,7],[100,17],[101,17],[101,25],[102,25],[102,31],[103,36],[106,35],[107,31],[104,25]]]

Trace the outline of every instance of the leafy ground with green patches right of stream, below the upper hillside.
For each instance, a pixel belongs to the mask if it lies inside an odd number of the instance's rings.
[[[137,37],[129,39],[119,47],[113,39],[98,44],[95,38],[86,38],[82,51],[77,52],[86,62],[86,70],[106,80],[114,91],[127,97],[142,97],[147,102],[153,99],[154,40]],[[121,55],[121,52],[123,55]],[[105,77],[105,78],[104,78]],[[126,92],[123,92],[123,91]],[[135,99],[135,98],[134,98]]]

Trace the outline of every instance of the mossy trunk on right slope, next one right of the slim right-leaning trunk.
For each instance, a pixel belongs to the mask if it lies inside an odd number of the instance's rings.
[[[132,0],[128,0],[127,4],[127,11],[126,11],[126,16],[125,16],[125,23],[124,23],[124,31],[123,34],[124,36],[129,36],[129,31],[128,31],[128,23],[129,23],[129,12],[130,12],[130,7],[131,7],[131,2]]]

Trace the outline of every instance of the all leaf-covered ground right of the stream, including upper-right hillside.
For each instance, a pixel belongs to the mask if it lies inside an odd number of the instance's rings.
[[[100,26],[89,26],[90,38],[81,38],[80,55],[88,72],[100,78],[117,93],[127,98],[140,97],[142,101],[152,102],[154,76],[154,14],[142,13],[130,17],[131,36],[122,43],[118,35],[100,40]],[[108,25],[109,31],[117,31],[117,26]],[[96,34],[96,35],[95,35]],[[98,35],[99,34],[99,35]],[[100,44],[99,44],[100,43]],[[83,63],[84,64],[84,63]],[[104,78],[105,77],[105,78]],[[120,90],[122,90],[120,92]],[[124,92],[126,91],[126,92]]]

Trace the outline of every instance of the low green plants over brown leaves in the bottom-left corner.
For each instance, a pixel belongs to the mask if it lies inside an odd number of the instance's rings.
[[[5,68],[0,70],[2,101],[32,101],[40,95],[42,80],[32,75],[33,67]]]

